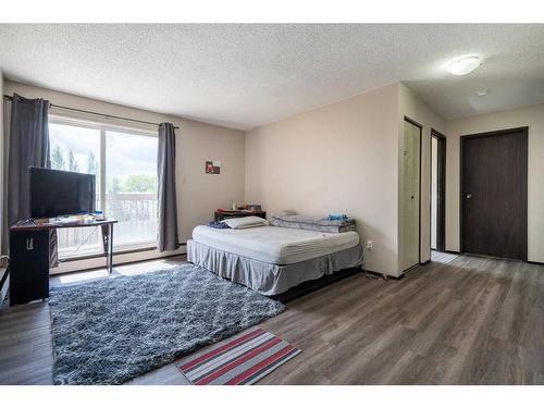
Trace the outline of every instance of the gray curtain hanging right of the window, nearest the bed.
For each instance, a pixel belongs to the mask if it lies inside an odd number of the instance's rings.
[[[172,123],[159,125],[157,175],[159,181],[157,248],[162,252],[180,248],[175,195],[175,132]]]

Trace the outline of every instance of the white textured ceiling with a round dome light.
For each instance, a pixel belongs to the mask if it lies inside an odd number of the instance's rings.
[[[9,79],[239,129],[396,81],[448,119],[544,102],[543,51],[537,24],[0,25]]]

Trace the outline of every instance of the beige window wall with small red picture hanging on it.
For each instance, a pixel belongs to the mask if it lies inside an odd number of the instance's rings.
[[[17,92],[27,98],[45,98],[55,104],[112,115],[149,122],[172,122],[180,126],[176,131],[176,183],[180,239],[183,242],[190,237],[196,225],[210,221],[215,209],[244,200],[244,132],[14,82],[5,82],[3,91],[9,95]],[[51,113],[71,114],[70,111],[54,108]],[[92,116],[87,116],[89,118]],[[116,124],[134,126],[126,121],[118,121]],[[205,173],[205,161],[210,159],[221,161],[220,175]]]

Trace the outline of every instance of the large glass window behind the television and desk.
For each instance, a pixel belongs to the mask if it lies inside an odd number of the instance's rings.
[[[157,242],[157,133],[53,116],[51,166],[97,176],[97,209],[119,221],[114,249]],[[101,254],[98,228],[59,230],[61,259]]]

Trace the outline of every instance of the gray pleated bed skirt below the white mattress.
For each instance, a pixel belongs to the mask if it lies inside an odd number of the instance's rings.
[[[304,282],[362,264],[362,247],[344,249],[307,261],[279,265],[225,252],[189,239],[187,260],[262,295],[279,295]]]

